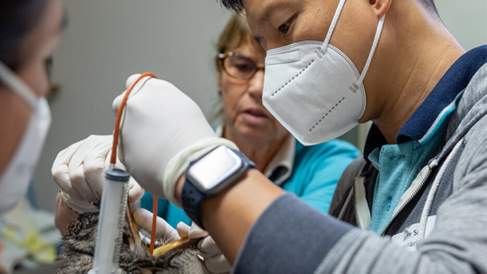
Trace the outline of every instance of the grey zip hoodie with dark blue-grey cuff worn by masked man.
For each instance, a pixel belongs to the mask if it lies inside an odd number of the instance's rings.
[[[377,176],[360,158],[331,204],[343,221],[283,195],[252,227],[235,273],[487,273],[487,46],[477,52],[480,69],[383,237],[352,226],[367,220],[364,188]]]

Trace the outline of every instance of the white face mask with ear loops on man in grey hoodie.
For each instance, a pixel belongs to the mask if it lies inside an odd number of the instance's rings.
[[[301,41],[267,51],[263,105],[303,145],[345,134],[358,124],[366,109],[362,82],[381,36],[384,16],[359,74],[353,62],[329,44],[344,3],[340,1],[324,42]]]

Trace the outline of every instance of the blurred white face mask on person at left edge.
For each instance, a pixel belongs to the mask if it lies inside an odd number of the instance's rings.
[[[2,62],[0,62],[0,82],[32,106],[32,116],[19,147],[3,174],[0,175],[0,213],[3,213],[14,208],[27,193],[32,173],[51,125],[51,112],[47,100],[44,97],[37,98],[34,91]]]

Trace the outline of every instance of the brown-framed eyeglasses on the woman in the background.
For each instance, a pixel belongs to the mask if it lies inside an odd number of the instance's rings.
[[[228,75],[240,80],[248,80],[259,69],[264,69],[263,67],[257,66],[250,58],[234,52],[219,53],[217,55],[217,64]]]

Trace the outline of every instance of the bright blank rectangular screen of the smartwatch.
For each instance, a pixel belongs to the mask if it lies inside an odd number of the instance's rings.
[[[195,183],[201,190],[211,190],[239,171],[241,166],[243,166],[241,158],[228,147],[222,146],[195,162],[188,170],[188,174],[195,179]]]

